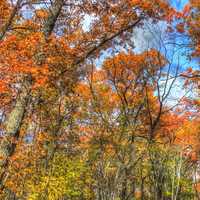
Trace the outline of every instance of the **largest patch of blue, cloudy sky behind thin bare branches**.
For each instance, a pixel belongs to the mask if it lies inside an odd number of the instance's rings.
[[[154,24],[151,20],[148,20],[144,22],[142,28],[136,28],[133,31],[132,40],[136,53],[154,48],[160,51],[169,61],[169,64],[163,68],[163,72],[167,73],[169,70],[169,75],[172,78],[167,80],[165,77],[159,80],[159,87],[162,96],[164,94],[164,85],[166,84],[166,91],[169,91],[169,94],[164,104],[169,107],[174,107],[180,103],[181,99],[192,95],[190,89],[183,87],[184,81],[182,79],[177,78],[173,82],[176,70],[178,68],[178,72],[181,73],[189,66],[195,66],[196,62],[189,59],[189,54],[191,53],[189,38],[176,31],[174,33],[168,33],[166,30],[166,22],[161,21]],[[155,95],[158,95],[158,91],[155,91]]]

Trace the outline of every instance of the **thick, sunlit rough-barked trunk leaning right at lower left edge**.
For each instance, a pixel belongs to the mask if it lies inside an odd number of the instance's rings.
[[[16,104],[5,122],[5,136],[0,143],[0,189],[4,188],[4,183],[8,176],[6,169],[9,165],[9,158],[15,152],[16,141],[19,137],[19,131],[29,100],[31,82],[30,76],[25,78]]]

